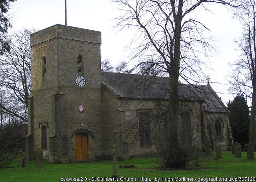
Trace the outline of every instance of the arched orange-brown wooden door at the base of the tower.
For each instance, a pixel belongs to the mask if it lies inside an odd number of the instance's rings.
[[[87,135],[78,133],[75,136],[76,161],[88,159],[88,140]]]

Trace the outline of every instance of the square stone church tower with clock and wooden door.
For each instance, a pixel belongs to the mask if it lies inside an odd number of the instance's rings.
[[[104,155],[101,33],[53,25],[30,35],[32,91],[29,98],[30,159],[36,148],[51,163]]]

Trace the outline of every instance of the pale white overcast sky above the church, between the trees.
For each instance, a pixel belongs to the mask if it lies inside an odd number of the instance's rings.
[[[210,84],[224,104],[233,100],[228,91],[230,65],[239,59],[237,44],[242,26],[232,18],[232,12],[219,4],[211,4],[212,12],[198,11],[195,16],[210,29],[214,46],[218,50],[205,57],[211,68],[205,70]],[[10,32],[23,28],[44,29],[55,24],[65,24],[64,0],[17,0],[12,3]],[[119,31],[116,18],[122,12],[111,0],[67,0],[67,25],[101,31],[101,59],[109,59],[113,66],[130,59],[127,48],[133,38],[132,31]]]

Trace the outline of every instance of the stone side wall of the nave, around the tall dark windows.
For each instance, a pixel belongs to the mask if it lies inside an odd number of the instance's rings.
[[[117,99],[106,87],[104,87],[102,92],[104,126],[106,129],[104,131],[106,133],[104,137],[105,155],[111,155],[111,146],[113,143],[117,146],[117,154],[123,155],[124,141],[128,142],[128,154],[131,157],[156,155],[157,150],[154,145],[156,143],[156,133],[153,131],[155,128],[154,123],[151,123],[151,146],[140,146],[138,126],[138,111],[154,110],[155,102],[144,99]],[[192,143],[201,147],[202,150],[200,104],[198,102],[180,101],[180,109],[180,112],[190,112]],[[178,128],[181,128],[180,121]],[[117,133],[114,133],[114,131],[117,131]],[[178,133],[180,133],[180,131],[178,131]]]

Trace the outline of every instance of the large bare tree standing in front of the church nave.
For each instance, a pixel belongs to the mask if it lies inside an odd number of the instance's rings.
[[[179,79],[191,81],[200,65],[197,53],[212,49],[209,39],[203,35],[208,30],[193,18],[196,9],[203,10],[209,3],[232,4],[233,0],[113,0],[120,4],[124,14],[118,23],[122,29],[137,27],[134,38],[138,43],[134,57],[153,57],[153,65],[167,74],[169,79],[168,121],[166,123],[168,141],[166,156],[168,167],[175,167],[177,156],[182,151],[178,141]],[[200,48],[198,48],[200,47]],[[139,65],[141,65],[140,63]],[[189,73],[189,75],[187,75]],[[186,154],[185,154],[186,155]]]

